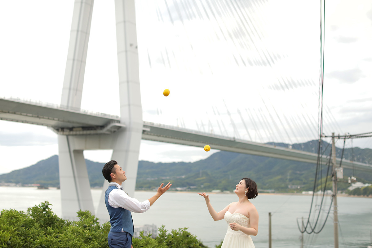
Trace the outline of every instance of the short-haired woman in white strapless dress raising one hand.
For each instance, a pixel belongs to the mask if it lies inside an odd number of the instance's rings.
[[[244,177],[237,184],[234,192],[239,200],[228,204],[218,213],[213,209],[209,195],[198,194],[204,197],[208,211],[214,220],[225,219],[228,223],[221,248],[254,248],[251,235],[256,236],[258,232],[258,212],[249,199],[258,196],[257,184],[250,178]]]

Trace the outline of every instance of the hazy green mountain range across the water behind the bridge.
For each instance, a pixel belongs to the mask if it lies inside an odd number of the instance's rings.
[[[288,144],[271,143],[270,145],[288,147]],[[318,142],[309,141],[303,144],[293,144],[292,149],[317,152]],[[324,154],[330,154],[330,144],[323,141]],[[336,148],[337,157],[341,156],[342,148]],[[356,158],[358,162],[372,158],[371,149],[344,149],[344,159]],[[362,160],[362,161],[361,161]],[[103,163],[85,160],[91,187],[102,186]],[[331,173],[331,172],[330,172]],[[327,167],[322,166],[319,171],[323,183],[327,174]],[[372,182],[372,173],[363,173],[344,169],[344,178],[354,175],[363,183]],[[256,181],[260,190],[294,191],[312,190],[314,187],[315,164],[260,157],[234,152],[216,152],[204,160],[196,162],[153,163],[138,162],[136,189],[150,190],[157,188],[160,183],[170,181],[173,189],[184,190],[229,190],[243,177],[250,177]],[[0,175],[3,183],[38,183],[45,186],[59,185],[58,156],[54,155],[39,161],[30,167],[15,170]],[[331,186],[331,184],[329,184]],[[347,180],[339,181],[338,189],[345,190],[349,184]],[[290,189],[291,187],[292,189]],[[318,190],[318,189],[317,189]]]

